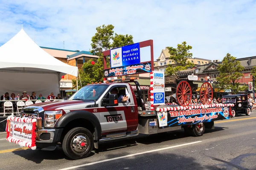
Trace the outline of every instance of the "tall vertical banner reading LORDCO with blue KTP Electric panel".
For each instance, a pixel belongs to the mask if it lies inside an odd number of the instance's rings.
[[[154,93],[154,104],[164,104],[165,88],[164,88],[164,72],[163,71],[152,71],[153,72],[153,93]]]

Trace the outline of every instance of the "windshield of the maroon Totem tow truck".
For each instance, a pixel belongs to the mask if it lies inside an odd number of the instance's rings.
[[[94,101],[103,94],[108,85],[87,85],[73,94],[69,100]]]

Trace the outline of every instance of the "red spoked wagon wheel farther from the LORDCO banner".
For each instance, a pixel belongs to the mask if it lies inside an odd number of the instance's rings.
[[[204,105],[209,105],[212,102],[212,86],[209,82],[204,82],[200,88],[200,100]]]

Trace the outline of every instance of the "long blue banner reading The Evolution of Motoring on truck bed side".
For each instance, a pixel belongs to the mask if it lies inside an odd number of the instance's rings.
[[[230,119],[228,107],[206,108],[180,111],[157,112],[158,125],[162,127],[173,127],[181,125],[192,125],[201,122],[212,122],[215,120]],[[163,114],[162,114],[163,113]],[[167,119],[166,123],[163,120]]]

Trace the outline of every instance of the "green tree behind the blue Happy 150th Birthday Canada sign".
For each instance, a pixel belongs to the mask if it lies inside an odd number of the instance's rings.
[[[104,78],[104,58],[103,58],[103,51],[110,50],[112,48],[121,47],[124,45],[130,45],[133,44],[133,37],[131,35],[122,35],[122,34],[116,34],[113,31],[114,26],[108,25],[108,26],[99,26],[96,28],[96,33],[92,37],[92,43],[91,47],[92,50],[91,53],[95,54],[96,56],[99,56],[98,59],[90,59],[87,62],[85,62],[82,66],[82,69],[79,70],[79,74],[81,77],[81,83],[80,79],[78,79],[78,88],[81,88],[82,86],[87,85],[87,83],[92,82],[103,82]],[[107,58],[107,67],[110,66],[109,58]],[[92,65],[91,62],[94,61],[95,64]],[[73,88],[76,88],[76,80],[73,80]]]

